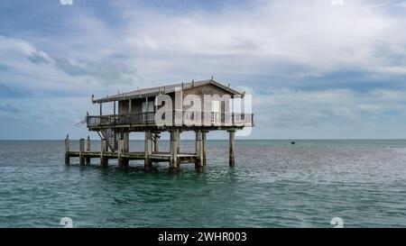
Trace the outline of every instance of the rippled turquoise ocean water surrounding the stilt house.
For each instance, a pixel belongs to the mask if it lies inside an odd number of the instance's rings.
[[[61,217],[74,227],[406,226],[404,140],[236,141],[235,169],[227,143],[208,141],[203,173],[171,174],[167,163],[66,167],[63,141],[0,141],[0,227],[60,227]]]

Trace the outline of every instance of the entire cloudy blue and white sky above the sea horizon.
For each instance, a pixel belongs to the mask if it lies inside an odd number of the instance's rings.
[[[3,0],[0,139],[84,137],[92,94],[211,76],[253,95],[248,138],[405,138],[405,28],[394,0]]]

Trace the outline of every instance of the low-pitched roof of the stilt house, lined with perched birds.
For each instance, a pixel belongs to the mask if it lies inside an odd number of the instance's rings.
[[[121,100],[128,100],[128,99],[135,99],[135,98],[145,98],[149,96],[158,96],[160,94],[169,94],[175,91],[176,87],[182,87],[183,89],[189,89],[192,87],[201,87],[205,85],[214,85],[225,89],[230,92],[232,95],[240,95],[242,96],[243,93],[232,89],[231,87],[227,87],[221,83],[218,83],[214,79],[207,79],[207,80],[200,80],[200,81],[192,81],[188,83],[180,83],[180,84],[173,84],[169,86],[162,86],[162,87],[149,87],[138,89],[130,92],[120,93],[113,96],[106,96],[99,99],[94,99],[94,104],[105,103],[105,102],[113,102],[113,101],[121,101]]]

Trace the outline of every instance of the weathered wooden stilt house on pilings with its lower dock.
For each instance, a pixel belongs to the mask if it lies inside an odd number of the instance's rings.
[[[90,140],[80,140],[80,150],[69,150],[66,140],[66,163],[70,157],[79,157],[80,163],[99,158],[106,166],[108,159],[118,159],[120,167],[128,166],[132,159],[143,159],[144,169],[152,169],[152,162],[168,161],[170,169],[176,170],[180,163],[195,163],[201,170],[206,165],[207,133],[229,132],[229,165],[235,165],[235,131],[254,125],[251,113],[235,112],[235,102],[241,104],[245,93],[225,86],[213,79],[191,81],[176,85],[137,89],[114,96],[95,99],[99,105],[98,115],[87,115],[89,131],[101,138],[101,150],[91,151]],[[113,104],[113,114],[103,114],[103,105]],[[241,108],[236,106],[235,108]],[[193,153],[180,150],[180,132],[196,133]],[[144,151],[129,148],[131,132],[145,132]],[[170,132],[170,151],[159,148],[162,132]],[[86,145],[86,150],[85,150]]]

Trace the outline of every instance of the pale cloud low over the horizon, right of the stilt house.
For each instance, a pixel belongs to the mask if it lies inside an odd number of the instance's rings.
[[[406,121],[404,105],[406,92],[389,89],[359,93],[348,89],[301,91],[281,88],[269,95],[254,94],[257,124],[285,134],[292,129],[306,129],[298,133],[298,138],[309,137],[308,132],[319,137],[318,131],[326,129],[331,129],[328,137],[333,138],[361,137],[359,132],[372,128],[399,130],[404,128]],[[339,129],[346,129],[346,135],[337,133]],[[370,136],[377,133],[370,132]]]

